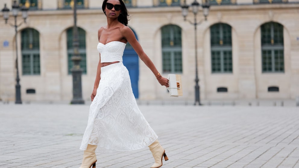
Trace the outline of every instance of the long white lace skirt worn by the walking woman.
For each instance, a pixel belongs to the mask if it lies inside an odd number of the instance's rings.
[[[131,151],[157,138],[137,106],[127,68],[122,62],[102,67],[80,149],[91,144],[96,152]]]

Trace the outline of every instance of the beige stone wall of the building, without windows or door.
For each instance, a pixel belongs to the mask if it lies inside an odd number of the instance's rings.
[[[11,1],[4,0],[11,8]],[[192,1],[187,1],[189,4]],[[201,99],[294,99],[299,95],[299,1],[289,4],[252,5],[251,1],[238,1],[247,5],[212,6],[207,21],[197,26],[198,72]],[[237,3],[238,3],[237,2]],[[57,10],[57,2],[42,1],[43,10],[29,11],[26,24],[18,28],[18,57],[21,96],[23,101],[70,101],[72,99],[72,77],[67,72],[66,30],[73,25],[71,10]],[[90,100],[96,75],[99,54],[96,50],[97,30],[106,24],[102,13],[102,1],[90,0],[89,9],[77,11],[77,25],[86,31],[87,74],[82,76],[83,99]],[[167,89],[159,85],[154,74],[140,60],[140,100],[194,100],[195,46],[194,26],[184,22],[180,7],[152,7],[153,2],[138,0],[142,8],[129,8],[129,25],[137,33],[146,54],[162,72],[160,28],[175,24],[182,28],[183,87],[184,96],[169,97]],[[0,15],[2,17],[2,14]],[[189,20],[193,20],[190,11]],[[198,19],[202,19],[202,13]],[[18,22],[21,22],[21,16]],[[260,25],[270,21],[284,26],[285,73],[262,73]],[[13,23],[10,16],[9,23]],[[215,23],[226,23],[232,27],[233,73],[211,72],[210,32]],[[40,33],[40,66],[38,76],[22,75],[20,53],[20,31],[33,28]],[[14,29],[0,20],[0,98],[14,100],[15,97],[15,35]],[[162,74],[167,76],[167,74]],[[279,92],[269,93],[268,86],[279,86]],[[227,93],[217,93],[218,87],[227,87]],[[35,89],[36,94],[26,94]]]

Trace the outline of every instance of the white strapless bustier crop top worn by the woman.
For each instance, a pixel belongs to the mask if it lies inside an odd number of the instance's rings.
[[[122,55],[124,54],[124,48],[126,43],[120,41],[112,41],[107,44],[99,42],[97,49],[101,53],[101,63],[103,62],[122,62]]]

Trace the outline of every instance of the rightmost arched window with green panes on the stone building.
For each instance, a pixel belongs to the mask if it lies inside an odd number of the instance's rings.
[[[261,26],[262,71],[284,72],[283,26],[269,22]]]

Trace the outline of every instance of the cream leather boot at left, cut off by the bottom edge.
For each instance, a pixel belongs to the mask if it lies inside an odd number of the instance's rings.
[[[82,164],[79,168],[90,168],[91,166],[96,168],[96,147],[96,145],[87,145],[87,148],[83,154]]]

